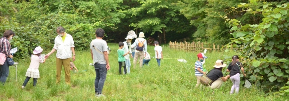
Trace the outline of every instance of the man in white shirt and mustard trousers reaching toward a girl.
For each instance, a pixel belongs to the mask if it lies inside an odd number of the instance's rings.
[[[62,65],[65,72],[65,82],[70,85],[70,58],[75,61],[74,41],[71,35],[65,32],[63,27],[57,27],[58,36],[54,39],[53,49],[45,55],[47,59],[49,55],[56,52],[56,83],[60,82]],[[71,54],[72,53],[72,54]]]

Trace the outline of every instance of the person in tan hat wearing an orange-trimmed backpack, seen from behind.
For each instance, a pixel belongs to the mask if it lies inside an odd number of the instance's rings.
[[[136,38],[134,44],[131,45],[133,48],[136,47],[136,53],[134,55],[134,69],[136,68],[136,61],[138,60],[138,57],[140,58],[140,67],[142,67],[143,59],[147,55],[147,40],[144,38],[144,33],[140,32],[140,35],[138,38]]]

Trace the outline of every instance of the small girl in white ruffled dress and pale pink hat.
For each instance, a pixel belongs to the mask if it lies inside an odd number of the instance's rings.
[[[44,60],[42,60],[40,54],[41,52],[43,51],[43,49],[38,46],[34,49],[33,51],[33,55],[31,55],[31,62],[30,62],[30,66],[29,68],[27,69],[27,72],[26,72],[26,79],[22,85],[22,89],[25,88],[27,82],[29,81],[30,78],[33,78],[33,86],[36,86],[36,83],[37,83],[37,78],[39,78],[39,64],[40,63],[44,63],[45,62],[45,58]]]

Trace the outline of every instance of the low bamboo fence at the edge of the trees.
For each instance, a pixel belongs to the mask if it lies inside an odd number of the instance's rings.
[[[233,48],[231,45],[215,45],[214,43],[208,43],[208,42],[171,42],[170,41],[170,48],[178,49],[178,50],[184,50],[184,51],[204,51],[204,49],[207,49],[208,51],[224,51],[226,49],[234,49],[238,51],[243,51],[243,45],[240,46],[240,48]]]

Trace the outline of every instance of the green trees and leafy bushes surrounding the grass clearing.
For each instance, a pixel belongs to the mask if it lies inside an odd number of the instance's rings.
[[[279,91],[288,83],[289,40],[283,40],[288,38],[286,3],[287,0],[2,0],[0,33],[8,29],[16,33],[11,41],[12,47],[18,47],[16,60],[29,57],[36,46],[51,49],[58,26],[73,36],[77,50],[88,49],[97,28],[105,30],[104,40],[109,43],[124,41],[127,32],[134,30],[137,34],[144,32],[149,43],[159,40],[161,44],[243,44],[244,51],[239,55],[252,68],[246,71],[250,81],[270,92]],[[288,94],[289,86],[284,87],[287,88],[281,94]]]

